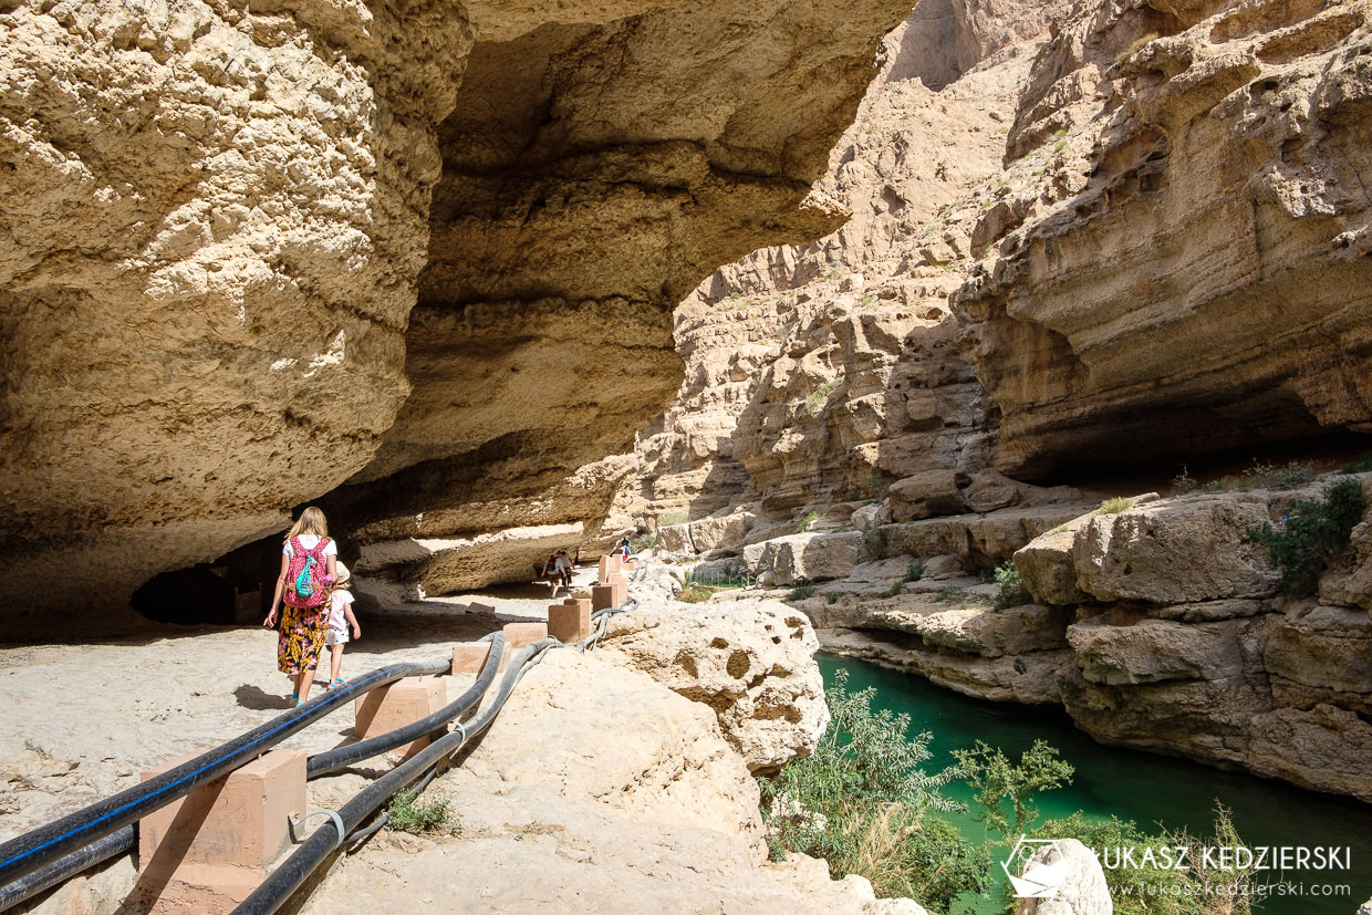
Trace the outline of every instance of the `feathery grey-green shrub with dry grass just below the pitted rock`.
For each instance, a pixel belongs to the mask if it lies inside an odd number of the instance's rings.
[[[772,857],[823,857],[836,878],[862,874],[881,897],[944,911],[962,893],[984,893],[989,846],[933,815],[958,809],[940,794],[955,771],[926,772],[932,737],[907,739],[908,715],[873,712],[874,690],[848,693],[847,682],[840,672],[826,690],[833,719],[815,752],[759,779]]]

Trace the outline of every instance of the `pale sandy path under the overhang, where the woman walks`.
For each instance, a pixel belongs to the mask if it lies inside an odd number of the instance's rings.
[[[594,578],[594,565],[580,568],[575,586]],[[547,587],[534,584],[423,604],[401,604],[384,587],[368,591],[376,601],[358,612],[362,638],[344,653],[343,679],[395,661],[447,657],[454,642],[504,623],[547,619],[550,602]],[[473,604],[494,613],[472,612]],[[446,679],[456,698],[472,678]],[[123,639],[0,646],[0,840],[270,720],[289,706],[291,693],[276,669],[274,631],[151,623]],[[281,746],[313,753],[351,739],[347,705]],[[358,775],[311,782],[311,800],[350,796],[359,783]]]

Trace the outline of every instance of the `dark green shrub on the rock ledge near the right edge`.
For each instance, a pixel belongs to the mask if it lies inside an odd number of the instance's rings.
[[[1324,487],[1324,501],[1297,499],[1287,510],[1286,525],[1249,528],[1249,540],[1268,547],[1281,569],[1281,590],[1313,594],[1329,560],[1349,546],[1353,527],[1362,519],[1362,484],[1340,480]]]

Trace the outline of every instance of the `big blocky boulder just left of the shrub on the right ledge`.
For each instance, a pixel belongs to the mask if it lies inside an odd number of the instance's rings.
[[[1100,601],[1151,604],[1273,594],[1280,575],[1247,542],[1266,521],[1265,505],[1229,495],[1093,516],[1073,543],[1077,586]]]

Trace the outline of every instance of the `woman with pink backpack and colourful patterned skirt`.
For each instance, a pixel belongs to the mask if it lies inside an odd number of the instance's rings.
[[[300,706],[310,696],[314,668],[324,650],[329,626],[329,584],[338,575],[338,545],[329,539],[324,512],[309,506],[291,525],[281,547],[281,575],[276,579],[272,612],[262,626],[276,624],[284,604],[281,634],[276,643],[276,667],[291,678],[291,704]]]

